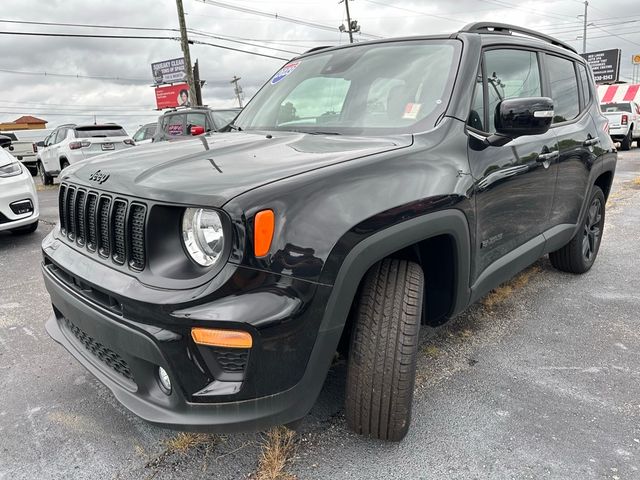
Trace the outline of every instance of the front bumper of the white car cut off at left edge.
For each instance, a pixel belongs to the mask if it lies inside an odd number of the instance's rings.
[[[12,205],[23,201],[30,201],[33,210],[16,213]],[[39,215],[36,187],[26,168],[15,177],[0,178],[0,231],[30,225],[38,221]]]

